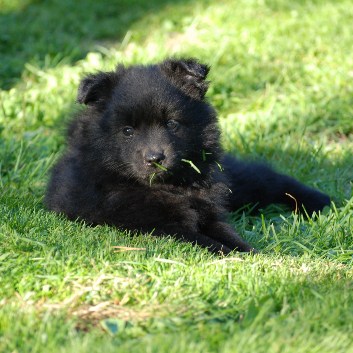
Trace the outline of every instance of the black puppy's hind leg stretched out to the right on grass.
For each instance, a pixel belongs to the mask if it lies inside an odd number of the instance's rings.
[[[241,162],[226,156],[223,166],[230,180],[231,210],[247,204],[257,204],[261,208],[280,203],[312,214],[330,204],[327,195],[287,175],[276,173],[266,165]]]

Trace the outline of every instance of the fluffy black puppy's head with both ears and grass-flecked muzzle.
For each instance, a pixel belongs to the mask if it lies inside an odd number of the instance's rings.
[[[193,59],[169,59],[86,77],[80,129],[96,163],[141,183],[205,177],[220,150],[216,115],[204,101],[208,71]]]

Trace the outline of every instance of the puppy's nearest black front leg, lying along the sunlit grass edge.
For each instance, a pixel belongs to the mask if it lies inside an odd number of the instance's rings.
[[[149,198],[147,196],[150,196]],[[158,192],[146,194],[134,188],[112,193],[108,201],[100,205],[103,219],[119,228],[141,230],[156,236],[170,235],[207,248],[213,253],[228,254],[233,250],[216,238],[199,231],[199,210],[192,209],[183,195]],[[127,205],[125,200],[129,200]]]

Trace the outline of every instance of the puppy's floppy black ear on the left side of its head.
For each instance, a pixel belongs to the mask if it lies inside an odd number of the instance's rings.
[[[100,72],[85,77],[78,88],[77,102],[89,106],[102,106],[110,98],[116,86],[121,67],[114,72]]]

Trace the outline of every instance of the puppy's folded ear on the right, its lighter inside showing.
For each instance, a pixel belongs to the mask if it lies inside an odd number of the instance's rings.
[[[210,68],[199,63],[196,59],[168,59],[160,68],[162,72],[188,96],[195,99],[203,99],[208,82],[206,77]]]

